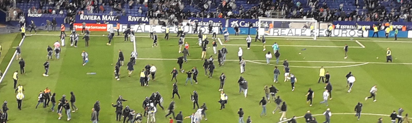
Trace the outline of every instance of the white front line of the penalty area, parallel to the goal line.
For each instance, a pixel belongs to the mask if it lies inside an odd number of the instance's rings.
[[[141,60],[177,60],[176,59],[158,59],[158,58],[137,58]],[[201,59],[187,59],[190,61],[203,61]],[[238,62],[239,60],[233,60],[233,59],[226,59],[226,61],[236,61]],[[248,61],[253,61],[253,62],[266,62],[266,60],[248,60]],[[279,61],[283,62],[283,61]],[[309,62],[309,63],[349,63],[349,64],[401,64],[401,65],[412,65],[412,63],[386,63],[386,62],[339,62],[339,61],[288,61],[288,62]]]

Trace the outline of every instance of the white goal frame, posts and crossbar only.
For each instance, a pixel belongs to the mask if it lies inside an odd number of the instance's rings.
[[[272,21],[274,22],[282,22],[282,21],[287,21],[287,22],[308,22],[308,23],[314,23],[314,30],[313,30],[313,36],[267,36],[267,37],[291,37],[291,38],[312,38],[316,40],[318,34],[319,34],[319,24],[317,20],[313,20],[311,18],[307,19],[279,19],[279,18],[264,18],[264,17],[259,17],[259,26],[258,26],[258,33],[259,36],[262,36],[265,34],[265,27],[262,26],[262,21]],[[262,29],[263,28],[263,29]]]

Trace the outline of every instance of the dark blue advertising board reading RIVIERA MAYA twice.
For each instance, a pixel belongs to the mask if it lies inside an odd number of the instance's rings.
[[[149,24],[149,18],[143,16],[110,16],[110,15],[76,15],[76,23],[111,23]]]

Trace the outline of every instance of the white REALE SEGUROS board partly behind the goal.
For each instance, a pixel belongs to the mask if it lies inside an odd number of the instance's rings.
[[[313,36],[309,29],[269,29],[265,30],[264,28],[260,28],[259,32],[264,32],[263,34],[268,36]],[[327,30],[314,30],[314,34],[317,36],[326,36]],[[262,33],[260,33],[262,34]],[[368,31],[361,31],[361,30],[333,30],[332,37],[361,37],[361,36],[368,36]]]

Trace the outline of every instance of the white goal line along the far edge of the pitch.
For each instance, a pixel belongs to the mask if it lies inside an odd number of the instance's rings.
[[[33,35],[44,35],[44,36],[59,36],[59,34],[33,34]],[[90,35],[90,36],[101,36],[101,35]],[[106,36],[106,35],[105,35]],[[123,36],[116,36],[116,37],[123,37]],[[149,37],[149,36],[136,36],[136,37]],[[174,38],[174,36],[171,36],[171,38]],[[178,37],[176,37],[178,38]],[[198,38],[198,37],[191,37],[191,36],[186,36],[185,38]],[[246,39],[246,37],[242,38],[236,38],[232,37],[230,39]],[[350,39],[285,39],[285,38],[266,38],[266,39],[283,39],[283,40],[310,40],[310,41],[351,41]],[[358,40],[358,41],[366,41],[366,42],[393,42],[393,43],[412,43],[412,41],[377,41],[377,40]]]

